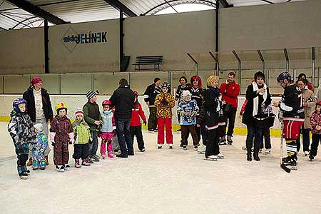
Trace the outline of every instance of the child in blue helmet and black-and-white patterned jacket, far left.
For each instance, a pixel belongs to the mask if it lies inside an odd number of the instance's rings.
[[[8,131],[14,141],[16,148],[16,161],[19,178],[27,179],[30,171],[26,168],[26,161],[29,154],[29,143],[33,143],[36,138],[34,126],[31,118],[26,114],[26,101],[23,98],[17,98],[13,103],[14,110],[11,111],[11,120],[8,125]]]

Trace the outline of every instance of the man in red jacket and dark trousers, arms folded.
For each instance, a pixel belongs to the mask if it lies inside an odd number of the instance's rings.
[[[223,106],[225,114],[225,128],[228,124],[228,144],[232,145],[232,136],[234,131],[234,123],[236,116],[236,109],[238,108],[238,94],[240,93],[240,85],[235,83],[235,73],[228,73],[228,79],[225,83],[220,85],[220,93],[222,93],[222,101],[225,103]],[[225,133],[224,137],[220,140],[220,145],[226,144]]]

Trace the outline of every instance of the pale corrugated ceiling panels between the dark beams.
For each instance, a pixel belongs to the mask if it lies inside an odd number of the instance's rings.
[[[106,3],[103,0],[25,0],[29,1],[35,6],[39,6],[41,9],[57,16],[64,21],[70,21],[71,23],[84,22],[84,21],[98,21],[105,19],[118,19],[119,11],[114,9],[113,6]],[[167,4],[164,0],[119,0],[122,4],[131,9],[138,16],[141,14],[153,15],[158,11],[166,9],[170,6],[175,8],[178,4],[208,4],[214,6],[215,0],[167,0]],[[288,0],[228,0],[228,4],[234,6],[249,6],[258,4],[270,4],[272,3],[284,3]],[[305,0],[292,0],[292,1],[305,1]],[[210,4],[213,3],[213,4]],[[162,4],[162,5],[161,5]],[[161,5],[161,6],[159,6]],[[7,1],[0,0],[0,29],[11,29],[20,21],[26,20],[23,24],[19,24],[15,29],[21,27],[32,26],[33,14],[18,9],[16,6],[9,4]]]

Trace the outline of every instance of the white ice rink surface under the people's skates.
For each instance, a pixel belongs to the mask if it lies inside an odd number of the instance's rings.
[[[279,165],[280,138],[261,161],[246,161],[245,136],[221,146],[225,159],[205,161],[191,146],[158,150],[157,133],[143,132],[146,152],[101,160],[59,173],[53,151],[46,170],[18,178],[7,123],[0,123],[0,213],[320,213],[321,157],[308,161],[302,151],[296,171]],[[51,147],[52,148],[52,147]],[[70,146],[70,157],[73,147]],[[320,152],[320,150],[319,150]]]

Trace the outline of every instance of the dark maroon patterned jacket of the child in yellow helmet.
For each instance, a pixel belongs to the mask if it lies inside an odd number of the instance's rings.
[[[67,116],[56,115],[50,124],[51,133],[56,133],[54,136],[54,143],[56,145],[66,145],[69,142],[69,133],[73,133],[73,127]]]

